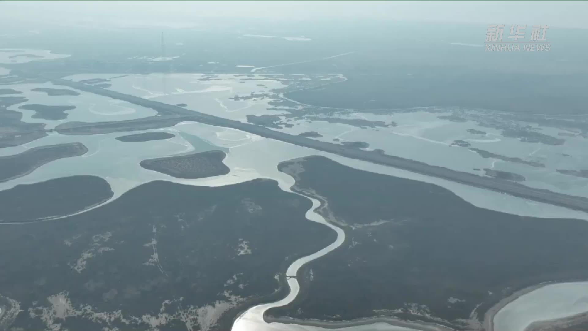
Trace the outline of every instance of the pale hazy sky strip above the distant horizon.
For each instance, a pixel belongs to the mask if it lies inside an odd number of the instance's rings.
[[[386,18],[588,28],[586,1],[0,1],[0,20],[186,22],[193,18]]]

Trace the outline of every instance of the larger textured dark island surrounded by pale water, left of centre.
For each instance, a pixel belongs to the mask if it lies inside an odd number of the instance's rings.
[[[176,178],[198,179],[228,174],[230,169],[222,161],[223,151],[206,151],[202,153],[153,158],[143,160],[141,167],[158,171]]]

